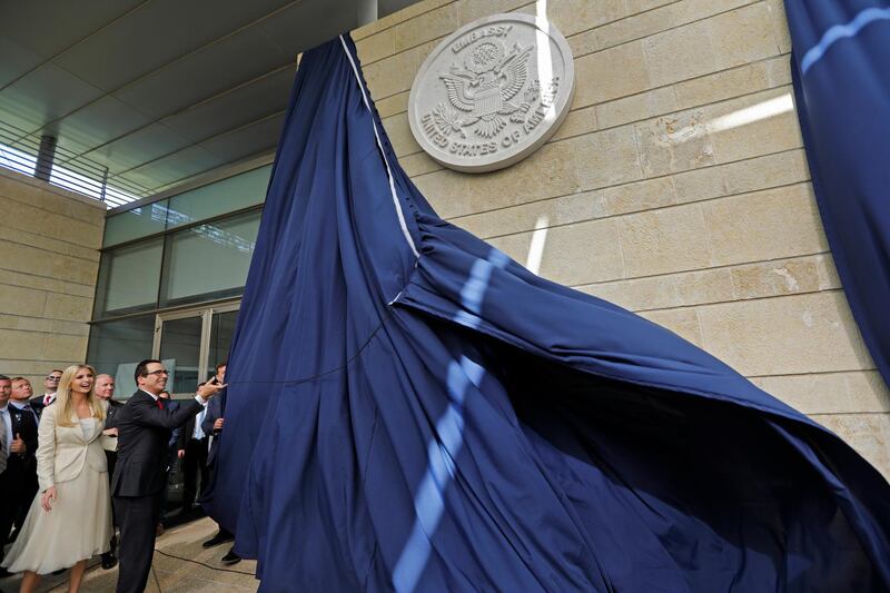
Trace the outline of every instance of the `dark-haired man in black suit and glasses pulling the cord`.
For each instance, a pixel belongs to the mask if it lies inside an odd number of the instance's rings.
[[[161,493],[167,486],[170,431],[182,426],[225,387],[208,383],[195,399],[170,411],[158,397],[168,376],[160,360],[139,363],[135,373],[139,389],[115,414],[110,426],[118,429],[118,459],[111,477],[120,525],[117,593],[142,593],[148,582]]]

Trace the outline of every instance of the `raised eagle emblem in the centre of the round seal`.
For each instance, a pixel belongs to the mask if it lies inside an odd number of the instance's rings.
[[[522,122],[531,108],[527,102],[511,101],[525,85],[528,76],[528,56],[532,47],[514,43],[507,51],[497,40],[476,43],[463,66],[453,63],[449,71],[439,75],[448,93],[448,101],[458,112],[448,112],[441,106],[436,112],[441,127],[461,131],[474,126],[474,132],[493,138],[511,121]]]

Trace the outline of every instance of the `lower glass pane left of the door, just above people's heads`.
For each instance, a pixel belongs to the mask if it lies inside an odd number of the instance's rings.
[[[90,328],[87,362],[96,367],[97,373],[115,377],[116,399],[126,399],[136,391],[132,374],[140,360],[151,358],[154,339],[154,315],[105,322]]]

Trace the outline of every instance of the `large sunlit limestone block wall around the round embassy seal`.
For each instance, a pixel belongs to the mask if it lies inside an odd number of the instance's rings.
[[[411,85],[442,39],[508,11],[545,11],[566,37],[572,111],[513,167],[444,169],[411,135]],[[890,477],[890,393],[815,207],[781,0],[426,0],[353,36],[399,160],[443,217],[521,263],[537,233],[542,276],[698,344]]]

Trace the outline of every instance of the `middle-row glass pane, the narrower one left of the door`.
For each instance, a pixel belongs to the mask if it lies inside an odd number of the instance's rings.
[[[96,290],[96,317],[155,308],[164,251],[158,237],[102,254]]]

